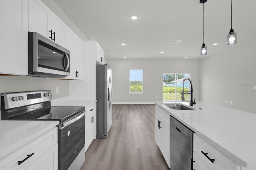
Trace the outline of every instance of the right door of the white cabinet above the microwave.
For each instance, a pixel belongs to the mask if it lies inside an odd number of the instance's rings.
[[[65,26],[66,24],[51,12],[50,37],[52,36],[52,40],[62,47],[65,47]]]

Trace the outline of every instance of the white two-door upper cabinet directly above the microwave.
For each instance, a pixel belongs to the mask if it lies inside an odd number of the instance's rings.
[[[58,45],[65,47],[66,24],[42,1],[28,1],[28,31],[37,32]]]

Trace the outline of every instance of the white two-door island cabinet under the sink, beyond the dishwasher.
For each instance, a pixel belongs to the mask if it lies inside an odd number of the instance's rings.
[[[170,115],[156,106],[155,139],[170,168]]]

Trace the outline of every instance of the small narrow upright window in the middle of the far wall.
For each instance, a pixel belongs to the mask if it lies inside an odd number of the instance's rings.
[[[143,93],[143,70],[130,70],[130,94]]]

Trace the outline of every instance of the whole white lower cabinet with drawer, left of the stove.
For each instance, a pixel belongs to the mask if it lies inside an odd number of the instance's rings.
[[[21,146],[0,161],[1,170],[58,169],[58,129],[54,127],[42,136]]]

